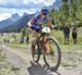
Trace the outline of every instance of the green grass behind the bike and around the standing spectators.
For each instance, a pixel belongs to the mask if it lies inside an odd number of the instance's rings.
[[[55,37],[59,43],[60,43],[60,48],[62,51],[69,51],[69,50],[82,50],[82,27],[79,28],[78,30],[78,43],[77,45],[73,45],[73,41],[72,41],[72,36],[71,36],[71,32],[70,32],[70,41],[69,41],[69,45],[63,45],[63,32],[62,30],[51,30],[51,36]],[[19,35],[16,37],[16,40],[12,43],[9,43],[8,46],[10,47],[15,47],[15,48],[23,48],[23,49],[27,49],[27,47],[31,45],[26,45],[26,43],[20,43],[19,42],[19,38],[20,38],[21,35]],[[32,35],[30,35],[30,39],[32,38]],[[0,38],[1,39],[1,38]]]

